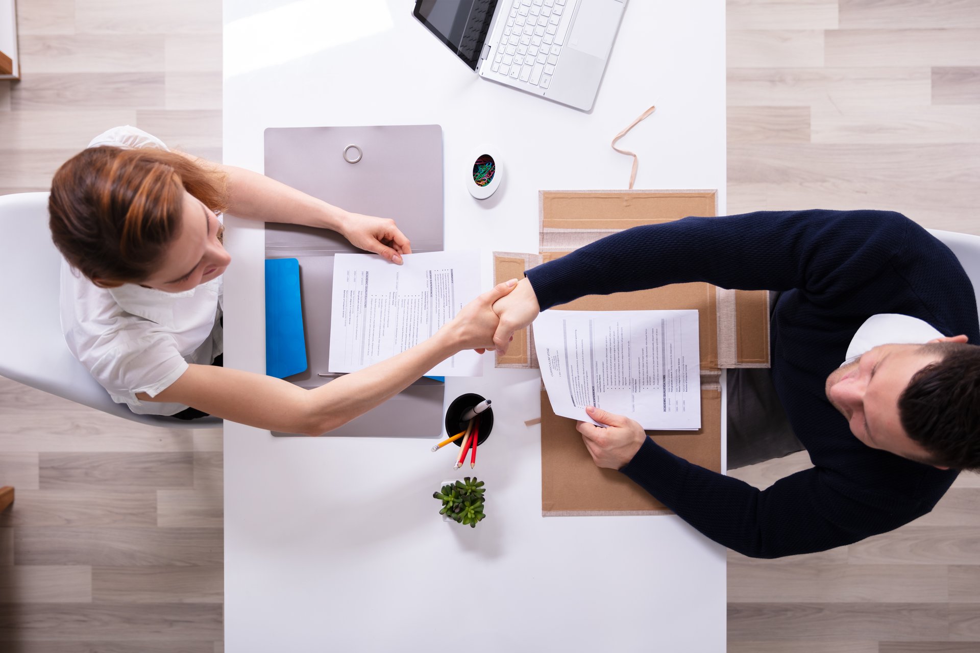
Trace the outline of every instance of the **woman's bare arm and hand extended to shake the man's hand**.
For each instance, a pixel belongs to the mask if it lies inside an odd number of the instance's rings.
[[[497,316],[491,306],[516,280],[480,295],[432,338],[388,360],[346,374],[315,390],[261,374],[190,365],[180,378],[143,401],[183,403],[206,413],[270,431],[319,436],[397,395],[436,363],[462,350],[493,347]]]

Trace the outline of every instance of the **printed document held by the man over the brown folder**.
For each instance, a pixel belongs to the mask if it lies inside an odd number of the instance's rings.
[[[546,310],[534,321],[556,415],[596,406],[644,429],[701,428],[697,310]]]

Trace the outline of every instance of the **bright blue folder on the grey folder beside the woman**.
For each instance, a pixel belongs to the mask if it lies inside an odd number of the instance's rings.
[[[284,379],[306,371],[300,261],[266,259],[266,374]]]

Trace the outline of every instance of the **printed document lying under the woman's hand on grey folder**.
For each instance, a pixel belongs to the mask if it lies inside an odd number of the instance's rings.
[[[480,294],[473,252],[408,254],[396,265],[373,254],[333,257],[331,372],[356,372],[409,350]],[[426,372],[480,376],[480,354],[465,350]]]

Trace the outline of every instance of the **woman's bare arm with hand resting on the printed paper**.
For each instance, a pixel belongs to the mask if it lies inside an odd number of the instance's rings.
[[[179,152],[195,163],[215,167],[228,182],[228,212],[264,222],[287,222],[330,229],[355,247],[401,263],[412,254],[412,244],[389,218],[353,213],[327,204],[264,174],[235,165],[223,165]]]

